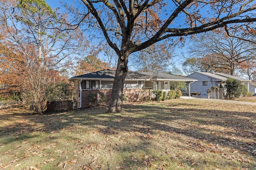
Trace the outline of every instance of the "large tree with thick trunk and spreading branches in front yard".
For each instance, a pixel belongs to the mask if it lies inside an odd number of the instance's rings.
[[[227,30],[240,25],[253,32],[256,21],[254,0],[80,0],[83,9],[70,10],[83,18],[90,31],[100,29],[107,43],[118,55],[112,97],[108,112],[122,110],[124,80],[128,57],[150,45],[175,37]],[[89,17],[86,18],[89,14]],[[82,22],[81,22],[82,23]],[[243,25],[243,26],[242,26]]]

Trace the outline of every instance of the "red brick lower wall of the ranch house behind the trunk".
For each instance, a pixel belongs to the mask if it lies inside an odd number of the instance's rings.
[[[111,89],[98,89],[98,90],[82,90],[82,107],[89,107],[90,106],[90,99],[88,97],[94,96],[97,94],[97,99],[99,100],[101,96],[106,96],[106,101],[104,104],[110,103],[111,98]],[[79,90],[78,90],[79,94]],[[128,97],[130,102],[138,102],[139,97],[141,96],[151,96],[151,89],[144,90],[140,88],[124,88],[124,94]]]

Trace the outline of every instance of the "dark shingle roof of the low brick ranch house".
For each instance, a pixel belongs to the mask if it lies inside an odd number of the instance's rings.
[[[75,79],[114,79],[116,74],[116,70],[100,70],[96,72],[91,72],[88,74],[83,74],[79,76],[74,76],[70,78],[70,80]],[[168,80],[168,81],[197,81],[192,78],[182,77],[182,76],[174,76],[171,74],[164,74],[160,72],[135,72],[128,71],[126,80]]]

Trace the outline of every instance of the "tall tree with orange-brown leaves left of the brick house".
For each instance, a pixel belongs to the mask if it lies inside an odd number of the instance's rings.
[[[66,25],[66,14],[60,15],[44,0],[0,2],[1,42],[13,53],[3,55],[2,62],[8,64],[1,69],[10,68],[1,75],[5,78],[1,83],[8,87],[16,84],[33,108],[42,112],[52,87],[50,73],[72,65],[70,56],[84,47],[84,36]]]

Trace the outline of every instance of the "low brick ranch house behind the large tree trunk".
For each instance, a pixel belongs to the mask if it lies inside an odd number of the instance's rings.
[[[115,73],[116,70],[101,70],[70,78],[70,81],[74,82],[75,103],[79,107],[88,106],[88,96],[92,93],[106,96],[109,102]],[[142,89],[147,90],[148,95],[154,89],[168,92],[170,82],[188,82],[188,90],[190,90],[190,84],[195,81],[197,80],[160,72],[128,71],[124,82],[124,94],[129,98],[136,96],[136,93]]]

